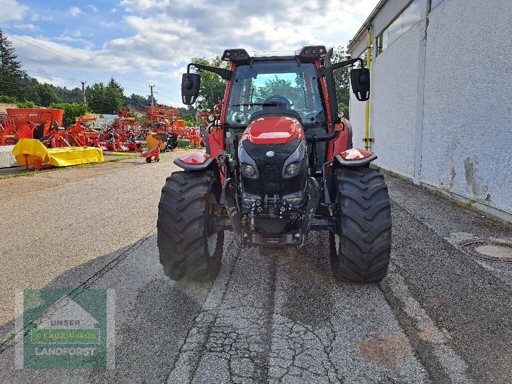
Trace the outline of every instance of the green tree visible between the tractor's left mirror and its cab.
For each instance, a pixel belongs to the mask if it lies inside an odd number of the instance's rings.
[[[208,59],[206,57],[194,57],[191,60],[195,64],[205,66],[227,68],[227,62],[221,60],[220,56]],[[194,67],[192,67],[194,69]],[[199,71],[201,73],[201,87],[197,100],[197,109],[201,112],[211,112],[214,106],[222,101],[226,91],[227,81],[221,79],[216,73]]]

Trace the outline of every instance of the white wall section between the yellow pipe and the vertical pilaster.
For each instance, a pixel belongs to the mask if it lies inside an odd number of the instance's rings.
[[[414,175],[419,38],[418,23],[372,62],[375,164],[409,178]]]

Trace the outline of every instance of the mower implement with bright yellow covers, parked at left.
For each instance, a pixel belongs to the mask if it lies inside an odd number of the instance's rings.
[[[63,148],[47,148],[37,139],[21,139],[14,148],[12,154],[16,157],[18,165],[29,165],[34,168],[100,163],[103,162],[101,148],[90,146],[70,146]]]

